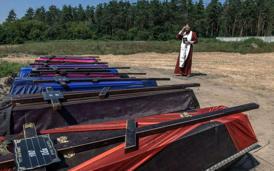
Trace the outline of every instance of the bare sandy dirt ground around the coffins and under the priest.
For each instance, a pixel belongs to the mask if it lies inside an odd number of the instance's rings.
[[[99,56],[101,62],[109,62],[110,67],[131,67],[119,69],[119,72],[147,73],[136,76],[139,78],[171,78],[170,81],[158,81],[158,85],[200,83],[201,87],[193,90],[201,108],[258,103],[259,109],[245,112],[258,138],[258,146],[228,170],[274,170],[274,53],[193,53],[190,78],[173,73],[178,54],[95,56]],[[2,60],[25,62],[37,59],[37,56],[29,54],[16,54],[19,55],[16,58],[12,55]]]

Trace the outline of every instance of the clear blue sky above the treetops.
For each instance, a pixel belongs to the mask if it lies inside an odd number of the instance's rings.
[[[99,3],[109,2],[110,0],[82,0],[82,1],[75,1],[75,0],[0,0],[0,23],[5,21],[11,9],[14,9],[15,14],[17,14],[17,18],[21,18],[25,15],[27,9],[32,7],[34,10],[38,7],[44,6],[46,10],[50,5],[56,5],[60,9],[62,9],[62,5],[71,5],[73,7],[82,4],[83,8],[85,9],[87,5],[96,6]],[[118,0],[119,1],[119,0]],[[124,1],[124,0],[123,0]],[[129,0],[131,3],[136,2],[137,0]],[[150,1],[150,0],[149,0]],[[162,1],[162,0],[160,0]],[[196,0],[193,0],[194,2]],[[197,0],[199,1],[199,0]],[[219,0],[223,3],[225,0]],[[211,0],[203,0],[204,3],[210,3]]]

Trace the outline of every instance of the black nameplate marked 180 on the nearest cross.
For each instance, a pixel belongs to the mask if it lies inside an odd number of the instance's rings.
[[[13,143],[17,171],[32,170],[61,161],[49,134],[13,140]]]

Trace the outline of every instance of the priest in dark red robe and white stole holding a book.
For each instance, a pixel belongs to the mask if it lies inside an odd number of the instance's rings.
[[[190,77],[193,49],[192,44],[196,44],[198,42],[197,35],[195,32],[190,31],[190,25],[186,24],[176,38],[181,39],[182,44],[174,74],[181,74],[180,76]]]

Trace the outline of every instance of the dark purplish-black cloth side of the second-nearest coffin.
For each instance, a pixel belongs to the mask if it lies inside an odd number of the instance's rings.
[[[22,125],[35,123],[36,130],[45,130],[138,118],[199,108],[192,89],[177,89],[165,93],[145,93],[130,97],[108,97],[97,100],[62,102],[61,110],[53,110],[51,104],[34,107],[14,107],[11,98],[20,95],[5,95],[0,110],[0,135],[23,133]]]

